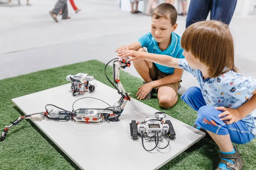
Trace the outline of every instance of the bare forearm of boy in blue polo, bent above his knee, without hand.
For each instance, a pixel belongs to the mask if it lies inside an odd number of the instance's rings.
[[[161,85],[172,84],[178,82],[182,76],[183,69],[175,68],[172,75],[163,77],[162,79],[155,80],[151,82],[153,88],[159,87]]]

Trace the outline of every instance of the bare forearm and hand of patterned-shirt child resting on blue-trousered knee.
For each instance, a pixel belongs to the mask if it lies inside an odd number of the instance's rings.
[[[231,109],[231,108],[225,108],[225,107],[216,107],[217,110],[224,111],[223,113],[219,114],[219,117],[226,116],[222,118],[222,121],[226,121],[227,125],[232,124],[233,122],[237,122],[244,117],[246,117],[248,114],[250,114],[252,111],[256,109],[256,90],[253,91],[253,96],[243,105],[241,105],[237,109]]]

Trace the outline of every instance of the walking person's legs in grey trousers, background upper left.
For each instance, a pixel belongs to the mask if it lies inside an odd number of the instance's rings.
[[[49,11],[52,19],[58,23],[57,15],[62,10],[62,20],[70,19],[67,11],[67,0],[58,0],[52,11]]]

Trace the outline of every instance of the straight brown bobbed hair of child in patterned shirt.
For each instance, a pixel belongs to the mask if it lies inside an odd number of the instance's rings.
[[[220,21],[194,23],[184,31],[181,47],[209,67],[209,77],[218,77],[234,65],[234,44],[229,27]]]

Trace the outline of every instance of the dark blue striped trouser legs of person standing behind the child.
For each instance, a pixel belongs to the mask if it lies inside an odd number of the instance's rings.
[[[218,20],[229,25],[236,9],[236,3],[237,0],[191,0],[186,28],[193,23],[206,20],[209,11],[211,11],[210,20]]]

